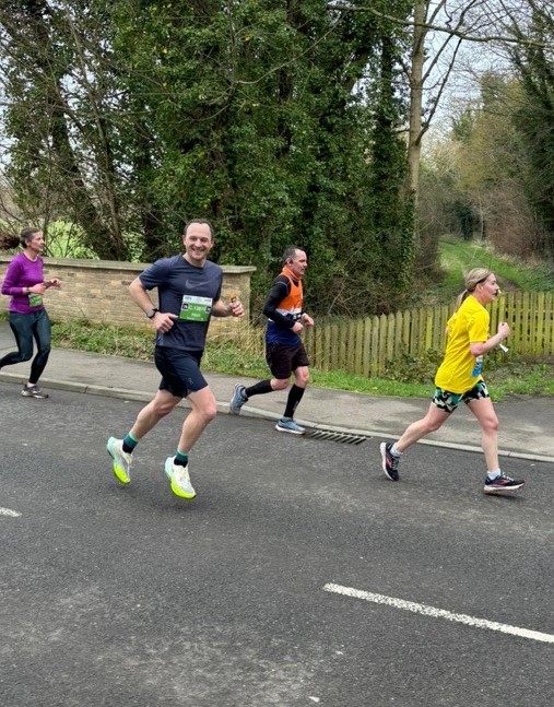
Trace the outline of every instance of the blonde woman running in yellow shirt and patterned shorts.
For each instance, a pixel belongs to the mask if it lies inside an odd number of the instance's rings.
[[[485,493],[516,491],[524,484],[500,471],[498,463],[498,417],[481,375],[483,355],[498,346],[510,329],[505,321],[488,335],[488,311],[484,305],[500,293],[493,272],[474,268],[465,275],[465,290],[458,297],[458,309],[448,320],[445,357],[435,376],[435,396],[425,417],[411,424],[396,443],[380,445],[382,470],[399,481],[398,466],[403,452],[422,437],[435,432],[464,402],[481,425],[482,447],[487,474]]]

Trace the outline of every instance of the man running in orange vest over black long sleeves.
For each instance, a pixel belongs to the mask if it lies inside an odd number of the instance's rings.
[[[299,337],[304,327],[314,326],[314,319],[302,308],[302,278],[307,267],[308,259],[304,250],[296,246],[286,248],[283,270],[273,281],[263,307],[263,314],[268,317],[266,360],[273,378],[260,380],[249,388],[237,384],[229,404],[229,413],[238,415],[245,402],[252,396],[285,390],[294,374],[294,384],[288,392],[284,415],[275,425],[278,432],[293,435],[303,435],[306,432],[295,422],[294,413],[309,380],[309,360]]]

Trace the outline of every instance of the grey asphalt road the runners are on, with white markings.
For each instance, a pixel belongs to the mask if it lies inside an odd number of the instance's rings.
[[[184,502],[185,410],[111,475],[139,409],[0,384],[3,707],[554,703],[549,464],[510,460],[526,488],[490,497],[480,456],[422,446],[394,484],[380,439],[220,415]]]

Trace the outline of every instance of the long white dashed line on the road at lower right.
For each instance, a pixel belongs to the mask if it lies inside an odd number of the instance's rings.
[[[468,614],[453,614],[451,611],[446,611],[445,609],[436,609],[435,606],[419,604],[414,601],[405,601],[404,599],[397,599],[396,597],[374,594],[369,591],[354,589],[353,587],[342,587],[341,585],[334,585],[332,582],[325,585],[323,590],[335,594],[343,594],[344,597],[353,597],[354,599],[365,599],[365,601],[370,601],[375,604],[387,604],[394,609],[411,611],[415,614],[423,614],[424,616],[448,618],[448,621],[456,621],[460,624],[473,626],[474,628],[488,628],[490,631],[499,631],[503,634],[511,634],[512,636],[519,636],[520,638],[531,638],[533,640],[541,640],[545,644],[554,644],[553,634],[542,634],[539,631],[529,631],[528,628],[520,628],[519,626],[499,624],[496,621],[478,618],[476,616],[469,616]]]

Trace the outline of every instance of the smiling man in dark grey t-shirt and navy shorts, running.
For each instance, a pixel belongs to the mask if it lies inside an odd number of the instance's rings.
[[[165,461],[165,473],[173,493],[195,498],[188,471],[189,452],[208,424],[217,413],[213,397],[200,370],[210,318],[241,317],[237,299],[221,299],[223,271],[208,260],[213,248],[213,227],[209,221],[189,221],[182,235],[185,254],[157,260],[129,285],[132,299],[156,329],[154,361],[162,374],[160,390],[143,408],[133,426],[122,439],[110,437],[107,450],[114,460],[116,479],[130,483],[132,451],[137,444],[162,417],[187,398],[191,410],[174,457]],[[157,287],[160,309],[152,305],[149,291]]]

